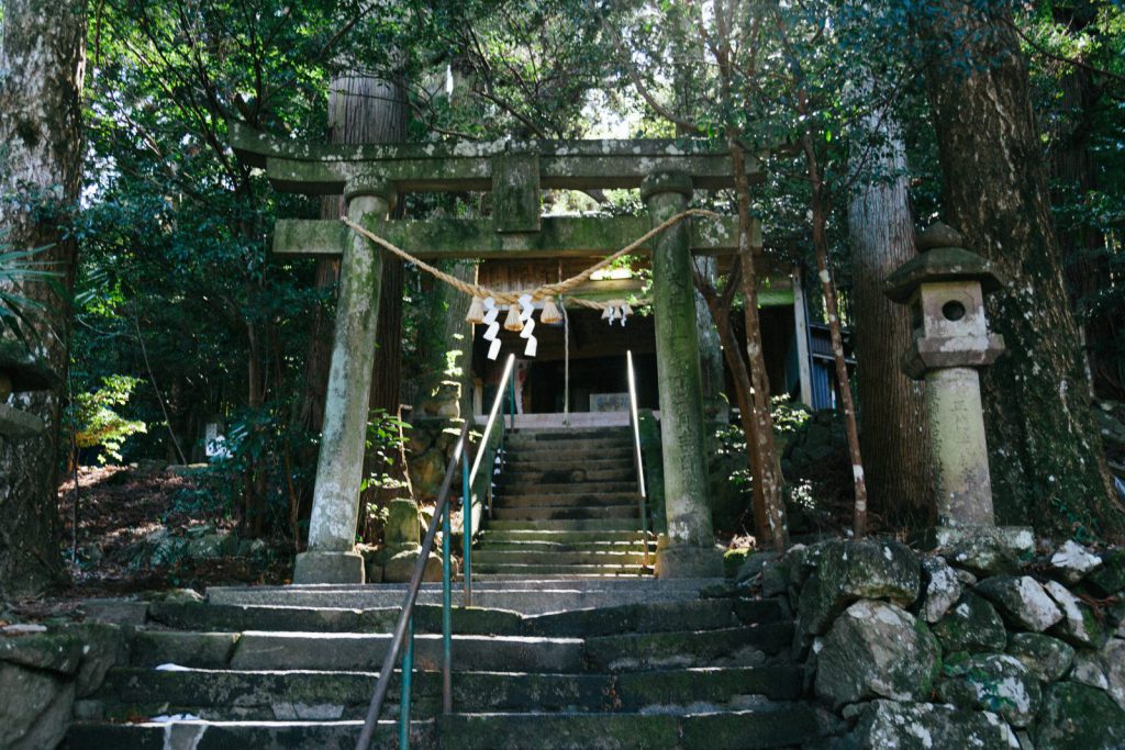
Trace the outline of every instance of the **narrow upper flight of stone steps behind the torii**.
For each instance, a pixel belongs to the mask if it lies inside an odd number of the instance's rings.
[[[475,579],[651,575],[628,427],[521,430],[506,450]]]

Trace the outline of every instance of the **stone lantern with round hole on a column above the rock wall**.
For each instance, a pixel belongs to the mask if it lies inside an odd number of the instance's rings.
[[[996,361],[1004,337],[990,334],[984,295],[1002,287],[991,264],[965,250],[961,234],[934,224],[920,254],[886,279],[886,296],[910,307],[914,328],[902,371],[926,382],[938,534],[992,527],[984,415],[978,370]]]

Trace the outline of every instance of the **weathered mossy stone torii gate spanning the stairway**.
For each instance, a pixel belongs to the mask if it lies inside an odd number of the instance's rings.
[[[231,142],[273,187],[343,195],[348,217],[425,259],[602,257],[684,211],[694,189],[734,186],[729,152],[699,139],[500,141],[493,143],[320,145],[232,125]],[[748,177],[760,181],[755,160]],[[543,217],[542,189],[640,188],[641,217]],[[389,220],[404,192],[492,191],[489,219]],[[755,236],[760,233],[755,232]],[[662,577],[719,575],[704,454],[703,398],[691,254],[737,249],[731,217],[681,222],[654,237],[652,308],[664,446],[667,545]],[[294,582],[363,582],[354,550],[368,418],[380,251],[334,220],[280,220],[273,252],[342,256],[332,364],[324,409],[308,551]]]

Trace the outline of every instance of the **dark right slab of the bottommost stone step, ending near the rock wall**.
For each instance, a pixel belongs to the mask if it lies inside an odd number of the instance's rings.
[[[441,748],[458,750],[760,750],[820,737],[826,720],[803,703],[746,711],[660,714],[454,714],[438,721]]]

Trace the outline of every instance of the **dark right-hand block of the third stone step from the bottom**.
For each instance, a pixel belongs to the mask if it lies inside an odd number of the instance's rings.
[[[793,624],[763,623],[724,630],[605,635],[586,639],[592,669],[631,671],[729,662],[755,666],[789,649]]]

